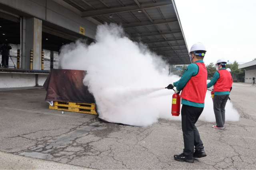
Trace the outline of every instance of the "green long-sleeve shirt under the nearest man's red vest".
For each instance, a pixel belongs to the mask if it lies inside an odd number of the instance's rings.
[[[204,63],[204,61],[198,60],[195,63]],[[197,64],[194,64],[194,63],[189,64],[186,70],[184,71],[183,75],[181,76],[180,80],[178,80],[177,82],[174,82],[173,84],[174,87],[176,87],[178,91],[181,91],[186,86],[188,80],[190,80],[192,76],[195,76],[198,73],[198,70],[199,68]],[[194,107],[204,107],[204,103],[191,102],[186,99],[181,99],[181,104],[194,106]]]

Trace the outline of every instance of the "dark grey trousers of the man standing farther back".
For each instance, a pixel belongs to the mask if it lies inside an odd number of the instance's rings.
[[[216,118],[216,126],[224,127],[225,124],[225,106],[228,101],[229,94],[213,97],[213,109]]]

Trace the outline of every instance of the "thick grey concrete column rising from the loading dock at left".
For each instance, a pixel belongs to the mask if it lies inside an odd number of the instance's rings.
[[[24,28],[25,27],[25,28]],[[33,49],[33,70],[41,70],[42,58],[42,20],[34,17],[27,17],[26,24],[23,25],[25,30],[25,57],[22,57],[23,69],[30,68],[30,49]]]

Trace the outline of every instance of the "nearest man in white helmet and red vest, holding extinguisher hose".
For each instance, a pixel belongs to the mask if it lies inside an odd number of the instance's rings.
[[[180,97],[182,132],[184,139],[183,153],[174,155],[174,159],[193,163],[193,158],[206,156],[203,143],[200,139],[195,123],[204,110],[204,98],[206,95],[207,70],[204,64],[206,48],[202,43],[194,44],[190,53],[190,61],[182,77],[177,82],[169,84],[168,89],[176,87],[175,92],[182,90]],[[195,147],[195,152],[194,152]]]

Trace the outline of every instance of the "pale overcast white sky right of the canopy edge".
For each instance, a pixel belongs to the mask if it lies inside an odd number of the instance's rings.
[[[256,0],[175,0],[190,50],[206,47],[204,62],[220,58],[249,62],[256,58]]]

